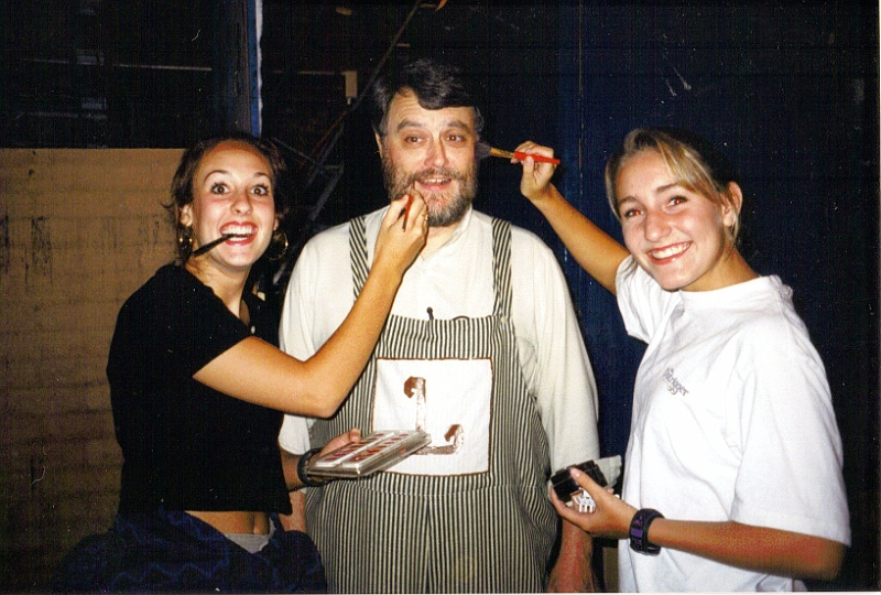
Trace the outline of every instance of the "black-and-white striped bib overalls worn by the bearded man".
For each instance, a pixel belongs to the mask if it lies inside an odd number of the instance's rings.
[[[482,359],[491,370],[486,470],[382,472],[308,490],[307,526],[329,591],[545,589],[558,519],[547,498],[547,439],[522,378],[511,322],[510,242],[510,225],[493,220],[492,315],[452,321],[390,316],[350,398],[333,419],[314,423],[313,444],[356,426],[388,430],[373,428],[378,360]],[[350,249],[357,294],[368,271],[361,218],[351,223]]]

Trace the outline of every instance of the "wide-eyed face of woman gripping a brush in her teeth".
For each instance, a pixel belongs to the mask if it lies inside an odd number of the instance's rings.
[[[267,250],[279,223],[265,158],[243,142],[225,141],[205,153],[193,176],[193,202],[181,223],[193,227],[194,249],[231,234],[220,246],[192,260],[247,271]]]

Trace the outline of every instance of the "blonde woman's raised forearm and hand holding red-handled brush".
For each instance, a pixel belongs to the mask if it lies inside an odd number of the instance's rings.
[[[524,153],[553,156],[554,151],[526,141],[516,148]],[[551,227],[566,245],[576,262],[612,294],[618,267],[628,257],[627,248],[597,227],[572,206],[551,183],[555,166],[532,158],[523,162],[520,192],[544,215]]]

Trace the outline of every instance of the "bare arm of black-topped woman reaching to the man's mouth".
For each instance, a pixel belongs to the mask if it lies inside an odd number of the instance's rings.
[[[334,414],[358,380],[391,311],[404,273],[425,244],[420,217],[425,203],[414,196],[404,229],[409,196],[392,202],[377,239],[370,274],[346,320],[322,348],[297,360],[257,337],[227,349],[193,378],[215,390],[287,413]]]

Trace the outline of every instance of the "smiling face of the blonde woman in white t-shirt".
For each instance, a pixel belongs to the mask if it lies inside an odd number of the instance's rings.
[[[631,156],[616,183],[624,244],[667,291],[708,291],[731,284],[736,219],[728,201],[713,202],[677,183],[656,150]],[[735,201],[740,188],[729,186]]]

